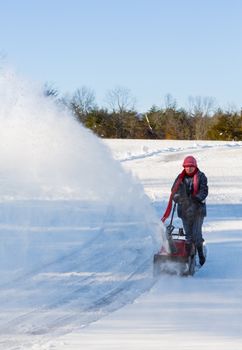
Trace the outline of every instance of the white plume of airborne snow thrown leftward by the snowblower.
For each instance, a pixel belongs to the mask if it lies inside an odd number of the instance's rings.
[[[0,98],[0,201],[8,216],[16,200],[68,200],[105,207],[109,219],[154,220],[141,185],[40,86],[2,69]]]

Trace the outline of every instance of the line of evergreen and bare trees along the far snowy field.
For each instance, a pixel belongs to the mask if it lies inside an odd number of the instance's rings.
[[[123,88],[108,92],[107,108],[98,107],[94,92],[85,87],[65,98],[50,87],[45,87],[44,93],[63,103],[79,122],[103,138],[242,140],[242,111],[215,108],[208,97],[190,97],[186,110],[167,95],[164,107],[152,106],[140,114],[129,90]]]

